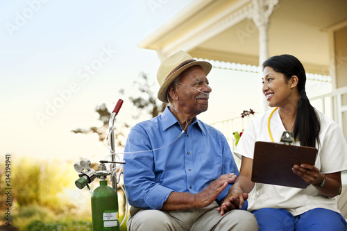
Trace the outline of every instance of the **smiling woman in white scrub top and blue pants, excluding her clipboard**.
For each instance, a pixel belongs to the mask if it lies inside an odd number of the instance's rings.
[[[242,165],[228,200],[219,208],[221,214],[243,205],[242,194],[253,190],[248,210],[260,230],[347,230],[336,198],[341,194],[341,171],[347,169],[346,140],[335,121],[312,107],[305,82],[305,69],[293,55],[264,62],[262,91],[273,109],[255,117],[237,144],[235,153],[242,155]],[[314,166],[292,168],[309,184],[305,189],[251,181],[255,142],[280,142],[285,130],[294,132],[296,145],[318,149]]]

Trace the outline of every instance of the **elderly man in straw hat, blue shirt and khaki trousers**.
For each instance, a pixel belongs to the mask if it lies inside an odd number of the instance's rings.
[[[160,65],[158,99],[170,105],[126,142],[128,230],[258,229],[253,214],[219,207],[239,172],[226,138],[196,118],[208,110],[211,69],[185,51]]]

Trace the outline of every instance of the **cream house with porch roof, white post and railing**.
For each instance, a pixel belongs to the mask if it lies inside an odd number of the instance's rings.
[[[272,55],[295,55],[308,73],[331,77],[332,92],[310,100],[321,103],[347,139],[346,12],[345,0],[196,0],[138,46],[157,51],[160,60],[182,49],[204,60],[255,66]],[[339,208],[347,218],[342,175]]]

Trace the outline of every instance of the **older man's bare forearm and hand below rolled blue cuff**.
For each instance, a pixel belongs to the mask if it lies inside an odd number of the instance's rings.
[[[206,207],[216,200],[221,191],[226,189],[228,184],[234,182],[235,179],[236,175],[234,173],[221,175],[217,180],[212,181],[208,187],[198,194],[173,191],[164,202],[162,210],[172,211]]]

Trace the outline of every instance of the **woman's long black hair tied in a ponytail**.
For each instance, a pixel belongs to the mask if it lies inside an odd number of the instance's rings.
[[[276,55],[266,60],[262,66],[263,69],[272,67],[274,71],[284,74],[287,80],[291,76],[298,76],[297,86],[301,99],[298,103],[298,112],[294,123],[294,137],[299,139],[302,146],[314,147],[316,141],[319,144],[321,123],[316,110],[306,96],[306,74],[301,62],[293,55]]]

